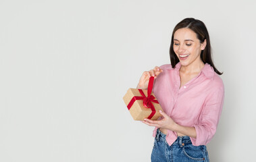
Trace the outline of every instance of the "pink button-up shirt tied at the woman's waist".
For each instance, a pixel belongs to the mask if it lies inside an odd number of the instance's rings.
[[[224,84],[211,65],[205,63],[201,72],[180,87],[180,62],[176,68],[161,65],[163,70],[155,79],[153,93],[163,111],[181,126],[195,127],[197,138],[190,137],[193,145],[206,145],[217,129],[224,103]],[[153,136],[157,128],[153,131]],[[176,132],[168,130],[169,145],[177,139]]]

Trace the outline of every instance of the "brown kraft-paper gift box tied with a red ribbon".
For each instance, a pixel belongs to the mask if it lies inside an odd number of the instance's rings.
[[[124,103],[134,120],[144,120],[145,118],[157,120],[161,116],[159,110],[163,111],[163,109],[161,109],[155,95],[151,92],[153,81],[153,77],[149,78],[147,90],[129,88],[123,97]]]

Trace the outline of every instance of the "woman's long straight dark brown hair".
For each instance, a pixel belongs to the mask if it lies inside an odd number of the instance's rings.
[[[172,42],[170,46],[172,68],[174,68],[175,65],[180,61],[174,53],[174,33],[180,28],[189,28],[190,30],[193,30],[197,34],[197,38],[199,39],[200,43],[203,43],[203,41],[206,39],[206,47],[201,51],[200,54],[201,60],[203,63],[209,63],[217,74],[222,75],[222,73],[215,68],[213,61],[211,60],[211,43],[207,28],[203,22],[196,20],[195,18],[185,18],[175,26],[174,31],[172,32]]]

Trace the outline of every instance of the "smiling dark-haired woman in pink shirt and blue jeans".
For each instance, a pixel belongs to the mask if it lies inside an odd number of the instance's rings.
[[[211,60],[205,24],[186,18],[172,32],[171,64],[144,72],[137,88],[153,92],[164,112],[155,126],[151,161],[209,161],[206,144],[213,138],[224,102],[224,84]]]

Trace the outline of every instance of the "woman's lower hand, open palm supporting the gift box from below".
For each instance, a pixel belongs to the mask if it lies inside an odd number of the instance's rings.
[[[163,115],[163,119],[161,120],[144,119],[143,123],[147,124],[148,126],[155,126],[157,128],[165,128],[168,130],[175,131],[178,124],[176,124],[175,121],[163,111],[160,110],[159,112],[161,113],[161,115]]]

